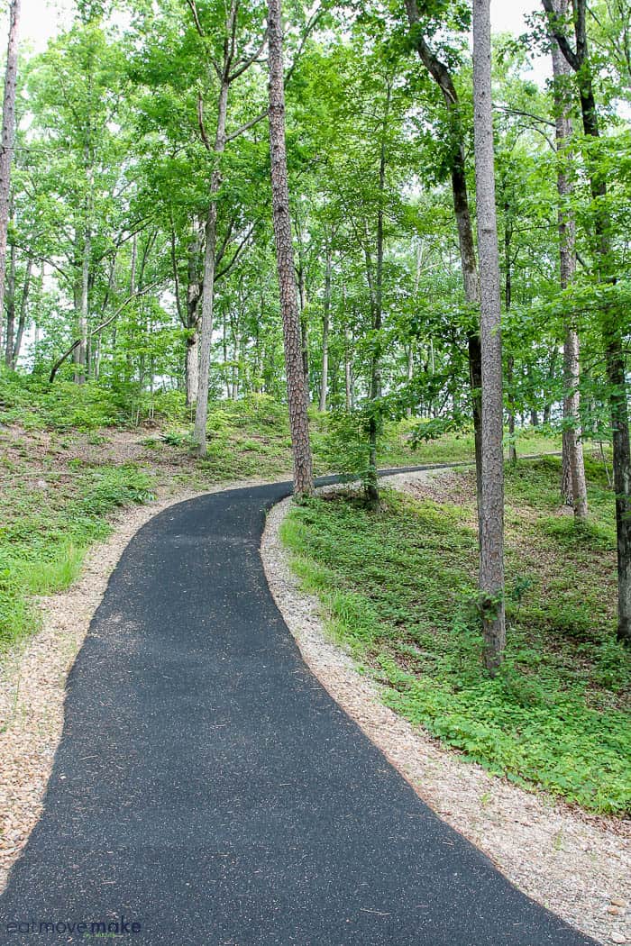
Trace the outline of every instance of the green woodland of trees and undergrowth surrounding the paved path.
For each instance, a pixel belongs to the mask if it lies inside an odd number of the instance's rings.
[[[631,8],[532,6],[79,0],[34,52],[10,0],[0,656],[116,508],[293,475],[388,704],[628,812]]]

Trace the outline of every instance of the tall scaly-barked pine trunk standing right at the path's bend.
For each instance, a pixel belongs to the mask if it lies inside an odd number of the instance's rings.
[[[302,359],[300,320],[293,269],[293,246],[291,244],[291,219],[289,216],[289,183],[285,144],[283,26],[280,0],[268,0],[268,44],[272,218],[285,342],[289,429],[293,449],[293,491],[296,496],[304,497],[313,494],[313,467],[307,416],[307,383]]]

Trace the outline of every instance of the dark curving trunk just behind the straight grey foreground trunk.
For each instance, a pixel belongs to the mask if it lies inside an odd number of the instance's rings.
[[[466,186],[464,130],[461,126],[458,93],[456,92],[456,87],[447,66],[432,52],[417,28],[419,26],[417,0],[405,0],[405,3],[410,26],[414,27],[414,47],[420,60],[428,70],[429,75],[436,82],[443,94],[447,115],[451,123],[451,134],[453,138],[450,167],[451,192],[456,225],[458,228],[464,299],[469,306],[477,308],[480,305],[480,281],[478,278],[473,227],[471,226],[471,213],[469,210]],[[478,519],[480,521],[482,503],[482,350],[480,332],[476,329],[468,333],[467,354],[469,359],[469,384],[471,387],[473,428],[475,433],[476,484],[478,494]]]

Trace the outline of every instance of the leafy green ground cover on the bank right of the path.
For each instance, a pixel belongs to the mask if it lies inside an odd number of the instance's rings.
[[[629,654],[615,640],[615,533],[605,473],[587,464],[590,517],[558,506],[559,461],[507,470],[508,650],[482,670],[470,472],[384,491],[368,512],[337,494],[296,506],[283,537],[337,639],[385,701],[491,771],[587,810],[631,807]],[[448,484],[448,485],[447,485]]]

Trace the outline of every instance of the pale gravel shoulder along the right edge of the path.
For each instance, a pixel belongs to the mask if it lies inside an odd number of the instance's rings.
[[[448,473],[398,474],[413,491]],[[339,487],[325,487],[339,488]],[[290,500],[267,517],[261,557],[272,595],[307,665],[326,690],[449,825],[536,902],[603,943],[631,943],[631,825],[594,818],[464,762],[385,707],[379,687],[327,635],[322,606],[289,567],[280,527]]]

